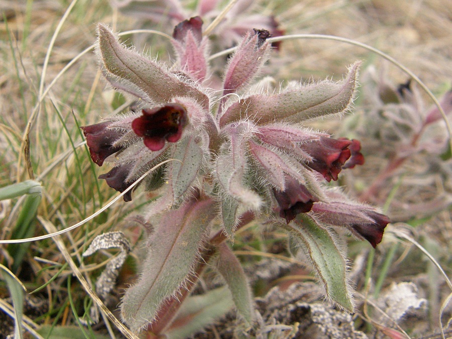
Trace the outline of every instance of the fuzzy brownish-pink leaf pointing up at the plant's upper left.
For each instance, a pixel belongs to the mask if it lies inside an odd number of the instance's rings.
[[[124,80],[125,84],[133,84],[149,100],[158,104],[170,102],[175,96],[188,96],[208,106],[204,93],[181,81],[158,63],[122,46],[106,26],[98,25],[98,37],[98,53],[105,69],[119,82]]]

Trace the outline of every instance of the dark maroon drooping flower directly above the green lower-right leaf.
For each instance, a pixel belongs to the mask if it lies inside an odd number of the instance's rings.
[[[279,216],[290,223],[298,213],[307,213],[318,199],[312,196],[309,190],[290,176],[285,176],[286,189],[278,191],[273,189],[279,205]]]

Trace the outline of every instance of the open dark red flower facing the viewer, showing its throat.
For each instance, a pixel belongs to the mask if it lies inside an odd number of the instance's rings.
[[[163,107],[145,108],[142,112],[142,116],[132,121],[132,129],[144,138],[144,144],[150,150],[160,150],[165,141],[180,139],[187,123],[187,111],[182,105],[169,103]]]

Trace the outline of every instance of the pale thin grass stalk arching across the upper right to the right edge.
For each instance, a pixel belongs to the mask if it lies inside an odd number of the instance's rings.
[[[346,43],[346,44],[354,45],[354,46],[357,46],[357,47],[364,48],[364,49],[366,49],[368,51],[371,51],[371,52],[381,56],[382,58],[388,60],[390,63],[392,63],[396,67],[400,68],[403,72],[405,72],[411,78],[414,79],[414,81],[425,91],[425,93],[427,93],[427,95],[435,103],[436,107],[438,107],[438,110],[441,113],[442,119],[444,120],[444,122],[446,124],[447,133],[448,133],[448,136],[449,136],[449,146],[452,149],[452,128],[450,126],[450,123],[449,123],[449,121],[447,119],[446,114],[444,113],[444,110],[442,109],[441,105],[439,104],[438,99],[436,99],[436,97],[428,89],[428,87],[412,71],[410,71],[408,68],[403,66],[401,63],[399,63],[393,57],[387,55],[386,53],[380,51],[379,49],[376,49],[376,48],[374,48],[372,46],[360,43],[360,42],[358,42],[356,40],[347,39],[347,38],[341,38],[341,37],[335,37],[335,36],[332,36],[332,35],[323,35],[323,34],[291,34],[291,35],[286,35],[286,36],[282,36],[282,37],[270,38],[270,39],[267,39],[267,41],[269,43],[273,43],[273,42],[279,42],[279,41],[284,41],[284,40],[293,40],[293,39],[319,39],[319,40],[330,40],[330,41],[336,41],[336,42],[343,42],[343,43]],[[224,50],[224,51],[212,54],[208,58],[208,60],[210,61],[210,60],[218,58],[220,56],[228,55],[228,54],[234,52],[236,49],[237,49],[237,47],[232,47],[232,48],[229,48],[227,50]]]

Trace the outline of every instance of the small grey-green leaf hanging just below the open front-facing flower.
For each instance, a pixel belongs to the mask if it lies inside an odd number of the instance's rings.
[[[194,139],[194,136],[182,139],[175,144],[171,155],[172,158],[180,160],[171,161],[168,169],[168,185],[174,202],[179,201],[189,190],[202,163],[202,150]]]

